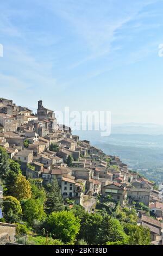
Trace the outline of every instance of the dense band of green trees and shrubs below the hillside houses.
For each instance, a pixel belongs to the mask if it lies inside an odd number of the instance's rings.
[[[17,242],[27,245],[149,245],[149,229],[137,226],[133,208],[122,208],[111,198],[97,198],[95,212],[64,205],[57,180],[42,187],[27,180],[20,164],[0,148],[0,179],[4,188],[0,221],[17,223]],[[71,161],[70,161],[71,163]],[[143,205],[140,205],[143,207]],[[146,209],[148,210],[148,209]],[[25,237],[25,238],[24,238]]]

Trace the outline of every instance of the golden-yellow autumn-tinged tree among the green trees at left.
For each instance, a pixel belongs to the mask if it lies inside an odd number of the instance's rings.
[[[29,199],[32,196],[29,181],[23,175],[18,175],[14,184],[13,195],[18,199]]]

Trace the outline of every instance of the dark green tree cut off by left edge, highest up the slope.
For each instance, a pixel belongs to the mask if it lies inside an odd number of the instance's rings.
[[[7,151],[0,147],[0,179],[4,180],[9,170],[9,156]]]

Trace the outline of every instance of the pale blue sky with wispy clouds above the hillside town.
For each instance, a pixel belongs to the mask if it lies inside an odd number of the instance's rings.
[[[162,13],[157,0],[1,0],[1,96],[163,124]]]

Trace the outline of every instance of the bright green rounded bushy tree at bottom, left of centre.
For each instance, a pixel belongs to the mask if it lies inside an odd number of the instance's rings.
[[[47,225],[54,239],[71,244],[74,243],[80,229],[79,218],[71,211],[52,212],[47,219]]]

